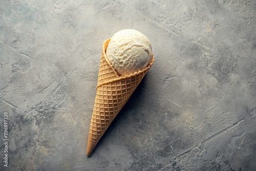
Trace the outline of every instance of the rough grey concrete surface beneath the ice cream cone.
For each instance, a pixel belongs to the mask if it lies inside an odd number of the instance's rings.
[[[0,4],[0,170],[256,170],[256,1]],[[155,63],[89,158],[101,46],[125,28]]]

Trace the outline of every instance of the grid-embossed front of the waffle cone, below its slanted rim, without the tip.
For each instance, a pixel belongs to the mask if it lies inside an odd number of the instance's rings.
[[[97,144],[145,74],[146,71],[132,77],[103,84],[97,88],[89,142]]]

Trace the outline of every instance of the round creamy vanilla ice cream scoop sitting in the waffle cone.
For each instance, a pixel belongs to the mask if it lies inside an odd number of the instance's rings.
[[[106,49],[106,56],[120,76],[143,70],[152,59],[150,40],[133,29],[115,33]]]

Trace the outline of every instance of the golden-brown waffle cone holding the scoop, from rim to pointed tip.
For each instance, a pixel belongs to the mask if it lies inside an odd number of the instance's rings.
[[[152,61],[143,70],[134,74],[119,76],[105,54],[109,41],[110,39],[104,41],[101,54],[97,91],[87,144],[87,156],[91,155],[106,129],[108,129],[154,62],[153,55]]]

